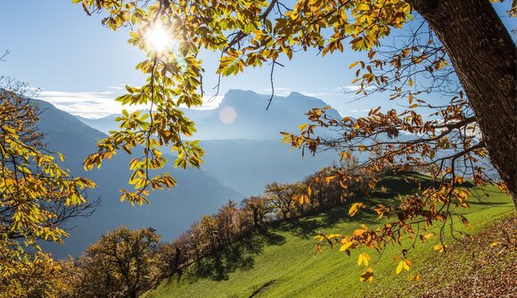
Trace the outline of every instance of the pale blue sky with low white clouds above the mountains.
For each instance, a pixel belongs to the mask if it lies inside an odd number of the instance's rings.
[[[508,5],[498,4],[497,12],[503,14]],[[0,52],[9,51],[0,62],[0,75],[39,88],[39,99],[74,115],[119,113],[121,107],[113,99],[124,93],[126,84],[144,84],[135,65],[145,55],[127,44],[128,29],[114,32],[104,28],[101,20],[101,15],[87,16],[71,0],[0,0]],[[351,50],[325,57],[299,52],[291,61],[279,60],[285,67],[275,68],[275,94],[304,93],[324,100],[343,116],[364,116],[383,103],[374,98],[353,101],[352,94],[343,93],[354,78],[349,64],[361,55]],[[217,82],[218,55],[202,58],[208,90]],[[224,77],[219,94],[230,89],[271,93],[269,72],[268,67],[247,68],[237,77]],[[207,103],[205,109],[217,107],[218,100]]]

